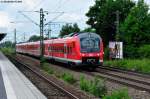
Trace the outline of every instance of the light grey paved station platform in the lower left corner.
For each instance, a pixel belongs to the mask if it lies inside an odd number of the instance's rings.
[[[0,99],[47,99],[0,52]]]

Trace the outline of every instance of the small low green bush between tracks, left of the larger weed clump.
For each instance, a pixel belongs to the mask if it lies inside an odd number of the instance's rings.
[[[70,84],[74,84],[74,83],[76,82],[76,79],[75,79],[74,76],[73,76],[72,74],[70,74],[70,73],[64,73],[64,74],[61,76],[61,78],[62,78],[64,81],[66,81],[66,82],[68,82],[68,83],[70,83]]]

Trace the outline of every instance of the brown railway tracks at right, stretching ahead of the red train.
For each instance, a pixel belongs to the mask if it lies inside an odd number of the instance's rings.
[[[150,76],[131,71],[123,71],[109,67],[99,67],[95,72],[86,72],[92,76],[99,76],[107,80],[130,86],[142,91],[150,92]]]

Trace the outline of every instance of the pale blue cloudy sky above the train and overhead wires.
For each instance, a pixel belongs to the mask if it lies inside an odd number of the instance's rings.
[[[150,0],[145,1],[150,4]],[[7,33],[4,40],[13,40],[13,31],[16,28],[18,42],[26,41],[32,35],[39,35],[39,27],[25,18],[19,11],[39,24],[40,15],[35,11],[39,11],[40,8],[48,11],[48,15],[45,14],[44,23],[60,15],[60,13],[51,12],[64,12],[60,17],[53,20],[56,23],[63,23],[51,25],[52,36],[58,36],[61,26],[65,23],[77,23],[81,29],[84,29],[88,27],[86,25],[88,18],[85,13],[88,12],[90,6],[94,5],[94,2],[95,0],[22,0],[22,3],[18,4],[0,3],[0,32]]]

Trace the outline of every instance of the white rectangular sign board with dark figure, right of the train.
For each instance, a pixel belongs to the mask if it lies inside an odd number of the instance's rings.
[[[123,58],[123,42],[109,42],[109,57]]]

